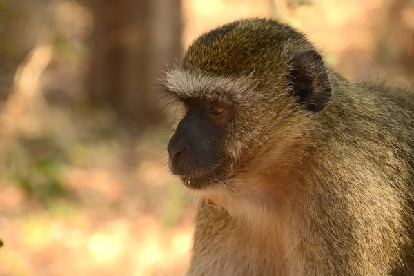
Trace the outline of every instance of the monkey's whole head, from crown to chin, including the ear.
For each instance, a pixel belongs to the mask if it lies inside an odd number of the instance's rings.
[[[267,19],[201,35],[164,90],[179,102],[170,169],[186,186],[237,190],[244,175],[301,159],[331,97],[328,70],[303,34]]]

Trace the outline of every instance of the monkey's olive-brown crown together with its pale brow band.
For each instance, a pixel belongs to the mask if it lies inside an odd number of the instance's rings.
[[[181,67],[167,70],[164,88],[181,99],[210,97],[242,103],[275,91],[290,66],[288,51],[311,48],[306,37],[270,19],[244,19],[201,35]],[[271,93],[273,91],[273,93]]]

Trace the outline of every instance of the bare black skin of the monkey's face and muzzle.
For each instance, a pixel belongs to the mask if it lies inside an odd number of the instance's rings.
[[[168,144],[170,168],[186,186],[201,189],[222,174],[231,107],[208,99],[187,99],[185,103],[187,114]]]

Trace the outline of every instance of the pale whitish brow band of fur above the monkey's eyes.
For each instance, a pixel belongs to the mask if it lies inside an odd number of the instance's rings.
[[[242,97],[246,98],[256,88],[255,79],[251,75],[223,77],[187,72],[181,68],[166,71],[163,86],[180,99],[206,97],[229,103],[239,103]]]

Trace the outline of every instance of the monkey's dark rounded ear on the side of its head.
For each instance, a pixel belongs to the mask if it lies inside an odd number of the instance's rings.
[[[315,113],[324,109],[331,99],[331,82],[321,55],[315,50],[296,52],[290,63],[289,80],[299,101]]]

